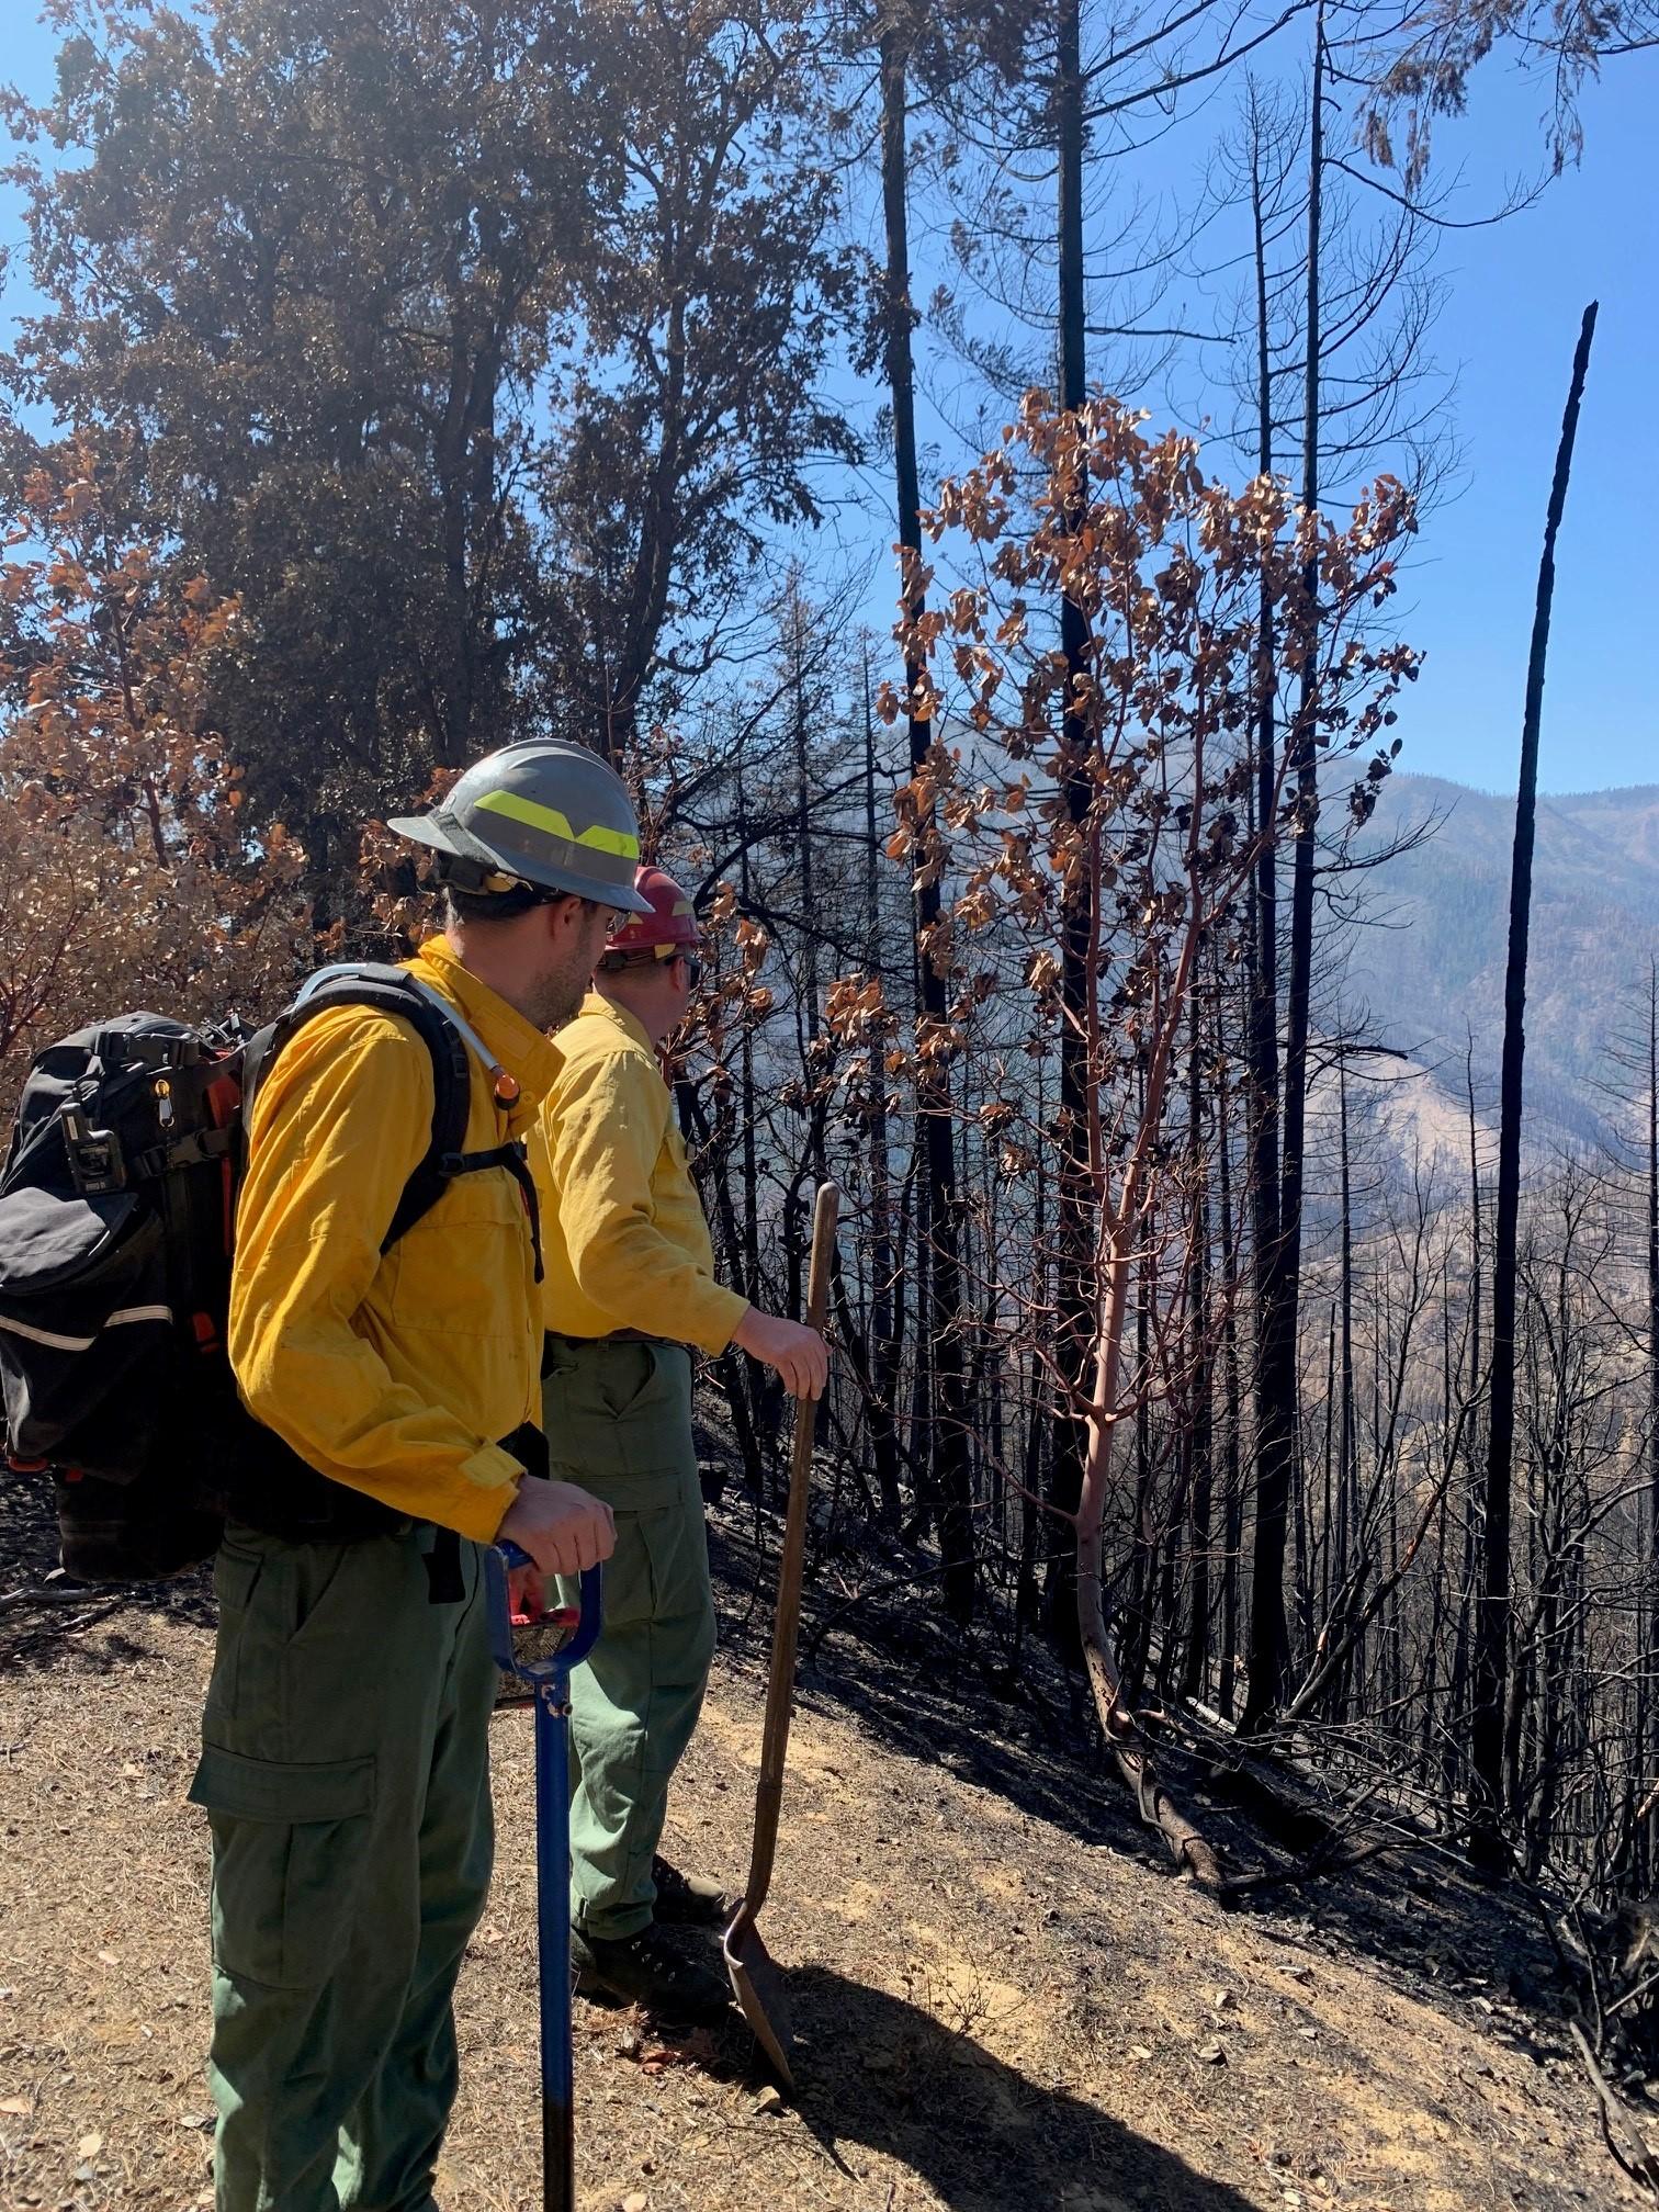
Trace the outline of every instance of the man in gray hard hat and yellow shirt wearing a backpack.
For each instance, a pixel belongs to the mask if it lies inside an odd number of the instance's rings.
[[[593,752],[535,741],[394,827],[447,885],[407,973],[465,1046],[465,1150],[396,1234],[438,1082],[383,1006],[323,1006],[254,1088],[230,1360],[290,1458],[230,1471],[190,1790],[212,1827],[219,2212],[429,2212],[491,1867],[480,1546],[577,1573],[613,1544],[608,1506],[538,1480],[522,1137],[557,1071],[546,1031],[639,905],[633,807]]]

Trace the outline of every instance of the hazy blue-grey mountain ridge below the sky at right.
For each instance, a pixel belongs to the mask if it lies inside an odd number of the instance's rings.
[[[1371,1033],[1462,1099],[1473,1031],[1475,1097],[1495,1106],[1515,799],[1438,776],[1389,776],[1360,849],[1440,818],[1371,880],[1374,925],[1356,933],[1345,998]],[[1595,1144],[1615,1075],[1608,1046],[1639,1022],[1659,958],[1659,783],[1540,799],[1526,975],[1531,1135]],[[1646,1022],[1644,1022],[1646,1026]],[[1628,1086],[1637,1097],[1635,1079]],[[1402,1099],[1405,1106],[1405,1099]],[[1429,1113],[1444,1124],[1444,1115]]]

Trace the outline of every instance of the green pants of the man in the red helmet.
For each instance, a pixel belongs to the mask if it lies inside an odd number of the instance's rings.
[[[690,1354],[571,1336],[549,1336],[546,1354],[553,1473],[617,1517],[604,1635],[571,1677],[571,1918],[608,1940],[650,1924],[668,1783],[714,1659]]]

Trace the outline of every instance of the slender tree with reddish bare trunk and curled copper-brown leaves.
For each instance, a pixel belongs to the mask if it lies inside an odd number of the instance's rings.
[[[927,531],[973,573],[905,626],[920,697],[883,695],[889,721],[911,712],[936,730],[900,792],[889,849],[951,891],[927,947],[951,980],[949,1009],[918,1024],[918,1064],[960,1055],[978,1009],[1006,1006],[1011,964],[1026,1055],[1057,1053],[1075,1018],[1060,991],[1064,931],[1079,907],[1086,916],[1082,1126],[1037,1126],[1026,1082],[1009,1079],[995,1099],[1004,1177],[1018,1183],[1068,1146],[1088,1192],[1082,1360],[1064,1356],[1048,1301],[1033,1296],[1051,1279],[1035,1239],[1004,1239],[982,1265],[1004,1343],[1042,1360],[1084,1433],[1071,1522],[1102,1728],[1148,1818],[1214,1880],[1214,1858],[1150,1774],[1121,1694],[1106,1540],[1124,1504],[1117,1447],[1139,1409],[1175,1394],[1194,1343],[1186,1298],[1199,1210],[1183,1186],[1208,1164],[1201,1139],[1179,1141],[1177,1077],[1201,962],[1241,953],[1256,838],[1292,834],[1283,794],[1303,750],[1325,761],[1369,752],[1352,792],[1356,818],[1369,812],[1398,750],[1387,737],[1394,699],[1416,670],[1407,646],[1371,635],[1413,513],[1387,478],[1343,529],[1301,511],[1274,478],[1232,493],[1206,478],[1194,440],[1150,436],[1141,420],[1117,400],[1057,414],[1031,396],[1002,445],[942,487]],[[1068,675],[1057,646],[1051,611],[1062,597],[1084,622],[1082,675]],[[920,588],[909,604],[922,604]],[[1303,706],[1281,732],[1274,803],[1252,836],[1263,681]],[[836,1011],[854,1035],[878,1020],[869,984],[843,991]],[[1141,1327],[1130,1332],[1137,1298]]]

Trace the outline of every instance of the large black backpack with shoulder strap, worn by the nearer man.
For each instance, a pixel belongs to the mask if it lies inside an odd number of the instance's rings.
[[[431,1053],[431,1144],[383,1252],[453,1175],[504,1166],[529,1181],[522,1146],[465,1150],[467,1042],[405,969],[323,969],[252,1037],[234,1020],[128,1013],[38,1053],[0,1172],[4,1453],[18,1473],[51,1473],[62,1562],[80,1582],[192,1566],[228,1513],[296,1540],[398,1526],[243,1409],[226,1352],[246,1115],[325,1006],[396,1013]]]

